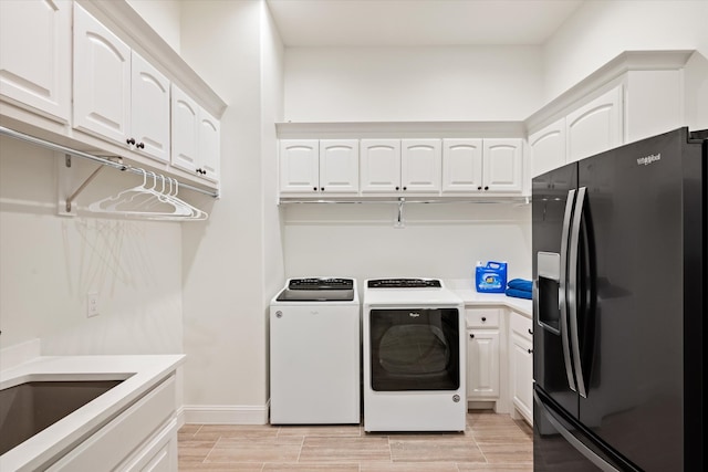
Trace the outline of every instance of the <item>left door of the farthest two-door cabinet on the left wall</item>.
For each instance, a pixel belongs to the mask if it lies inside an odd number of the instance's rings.
[[[171,86],[173,166],[194,172],[199,147],[199,106],[186,93]]]

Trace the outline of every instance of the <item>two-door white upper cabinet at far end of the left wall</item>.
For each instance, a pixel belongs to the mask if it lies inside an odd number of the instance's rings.
[[[189,95],[171,85],[171,165],[219,181],[221,156],[219,120]]]

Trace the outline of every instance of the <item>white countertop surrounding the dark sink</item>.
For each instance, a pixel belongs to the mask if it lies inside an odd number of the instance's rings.
[[[69,452],[168,377],[184,359],[184,355],[41,356],[0,371],[0,389],[29,380],[125,379],[0,455],[0,471],[34,470]]]

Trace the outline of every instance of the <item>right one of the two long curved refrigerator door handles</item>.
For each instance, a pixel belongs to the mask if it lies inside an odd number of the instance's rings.
[[[571,349],[573,354],[573,366],[575,367],[575,382],[581,397],[587,398],[585,390],[585,377],[583,377],[583,366],[580,356],[580,337],[577,333],[577,261],[580,253],[580,224],[583,220],[583,206],[587,188],[577,189],[575,199],[575,210],[573,211],[573,225],[571,228],[570,256],[568,261],[568,310],[570,321]]]

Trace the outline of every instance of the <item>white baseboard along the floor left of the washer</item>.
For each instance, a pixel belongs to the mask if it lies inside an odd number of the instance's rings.
[[[185,405],[178,418],[183,424],[268,424],[268,405]]]

